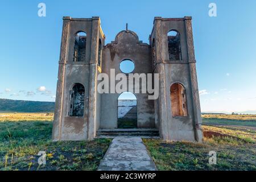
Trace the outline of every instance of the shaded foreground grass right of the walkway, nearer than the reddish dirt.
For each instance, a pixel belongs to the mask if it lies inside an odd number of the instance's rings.
[[[221,142],[222,141],[222,142]],[[143,139],[159,170],[256,170],[256,145],[237,144],[228,138],[204,143],[163,142]],[[236,144],[234,144],[236,143]],[[209,151],[217,152],[217,164],[209,164]]]

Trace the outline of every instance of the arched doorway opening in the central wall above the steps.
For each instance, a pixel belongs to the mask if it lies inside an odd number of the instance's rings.
[[[117,126],[119,129],[137,128],[137,98],[131,92],[118,97]]]

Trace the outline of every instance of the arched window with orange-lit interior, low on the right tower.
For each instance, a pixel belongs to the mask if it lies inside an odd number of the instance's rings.
[[[171,85],[172,116],[187,116],[187,98],[183,85],[175,83]]]

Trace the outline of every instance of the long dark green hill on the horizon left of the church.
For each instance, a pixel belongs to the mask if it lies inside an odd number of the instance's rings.
[[[0,112],[50,113],[55,102],[19,101],[0,98]]]

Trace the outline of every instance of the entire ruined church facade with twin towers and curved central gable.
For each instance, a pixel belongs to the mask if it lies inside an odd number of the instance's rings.
[[[123,30],[105,45],[99,17],[63,18],[53,140],[92,140],[98,131],[118,128],[118,93],[99,93],[97,77],[122,73],[131,60],[131,73],[158,73],[159,97],[137,98],[137,129],[154,129],[164,140],[201,142],[201,110],[193,47],[192,18],[154,18],[149,44]],[[116,83],[118,81],[115,81]],[[135,129],[136,130],[136,129]],[[118,131],[122,131],[119,129]]]

